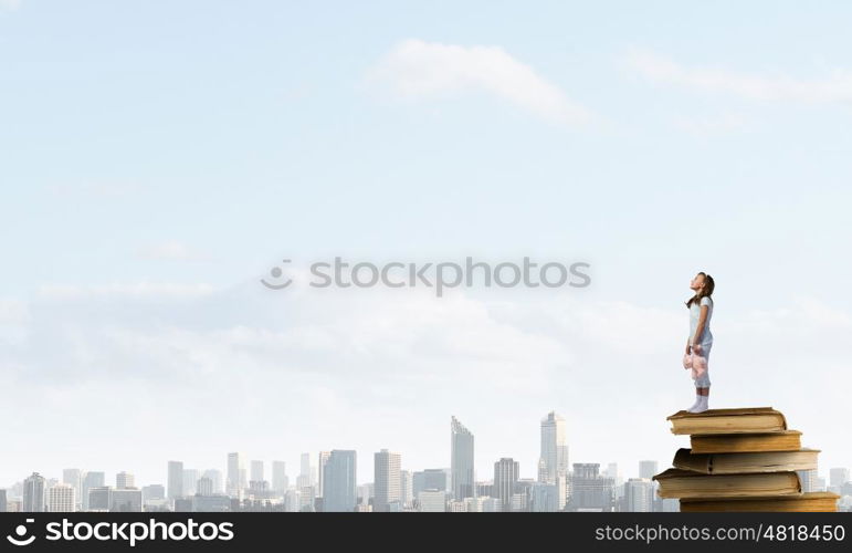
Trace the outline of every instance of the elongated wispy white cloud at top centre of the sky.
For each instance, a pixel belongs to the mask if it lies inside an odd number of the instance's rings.
[[[559,124],[576,125],[591,118],[587,108],[499,46],[409,39],[395,45],[368,71],[367,82],[406,98],[485,92]]]

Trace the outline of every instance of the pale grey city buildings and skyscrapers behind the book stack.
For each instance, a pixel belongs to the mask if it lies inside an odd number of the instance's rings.
[[[532,504],[537,505],[535,510],[538,511],[561,511],[568,509],[570,501],[576,500],[576,498],[580,498],[578,501],[590,501],[597,504],[600,501],[599,494],[603,491],[603,489],[598,488],[599,484],[593,484],[589,489],[577,490],[572,489],[576,483],[569,484],[569,482],[574,482],[576,478],[591,479],[590,481],[597,482],[601,477],[609,479],[610,484],[608,486],[611,487],[609,493],[612,493],[613,501],[621,505],[619,509],[643,510],[650,508],[652,503],[656,504],[661,501],[653,492],[655,484],[651,482],[651,477],[659,472],[660,463],[658,460],[639,461],[637,476],[623,471],[623,468],[618,467],[614,462],[608,463],[603,470],[600,470],[602,466],[600,462],[570,462],[565,436],[565,419],[555,411],[549,411],[540,419],[539,432],[540,459],[537,463],[536,478],[522,476],[518,461],[512,457],[503,457],[494,461],[491,478],[487,478],[488,474],[485,474],[485,478],[476,476],[470,487],[464,468],[475,455],[473,451],[474,432],[467,429],[455,416],[451,416],[450,419],[450,467],[413,470],[406,467],[402,452],[382,448],[380,451],[374,452],[375,478],[371,481],[357,479],[358,456],[356,450],[332,449],[330,451],[318,451],[315,455],[302,452],[298,474],[294,474],[292,479],[286,473],[286,461],[251,459],[241,452],[229,452],[223,468],[186,468],[187,465],[182,460],[169,460],[165,486],[157,481],[136,486],[138,481],[136,474],[125,470],[115,473],[115,483],[111,486],[106,483],[103,471],[80,468],[63,469],[61,480],[34,471],[21,482],[15,482],[14,486],[21,486],[21,508],[34,512],[41,510],[55,512],[90,509],[113,510],[115,505],[123,505],[120,509],[141,510],[144,505],[148,504],[146,493],[151,493],[151,490],[155,490],[155,494],[160,493],[162,500],[168,501],[171,509],[178,509],[180,501],[198,495],[210,499],[204,499],[203,501],[207,502],[203,502],[202,499],[196,498],[200,502],[199,504],[206,507],[199,508],[198,504],[193,503],[193,509],[221,510],[225,503],[215,501],[215,498],[221,495],[222,498],[239,498],[240,500],[244,497],[256,497],[261,500],[277,497],[284,503],[295,501],[301,508],[313,505],[316,498],[322,498],[324,511],[351,511],[354,505],[360,503],[362,499],[360,494],[364,492],[369,494],[371,510],[386,512],[395,510],[393,503],[401,505],[408,504],[413,499],[420,500],[420,494],[425,491],[423,502],[418,503],[421,505],[418,510],[439,510],[436,502],[441,501],[440,498],[444,498],[444,501],[451,501],[451,503],[446,503],[448,510],[453,504],[452,501],[463,501],[467,507],[470,507],[467,502],[473,501],[478,505],[475,508],[482,510],[483,504],[477,502],[477,498],[482,495],[477,491],[481,486],[491,487],[491,492],[484,497],[485,499],[497,500],[497,510],[522,511],[532,509],[530,505],[526,504],[527,501],[530,501]],[[246,467],[249,467],[248,472]],[[267,467],[272,469],[272,472],[266,472]],[[824,469],[822,470],[824,471]],[[442,473],[443,477],[440,481],[442,483],[424,482],[422,478],[430,471]],[[266,480],[264,478],[266,474],[278,484],[274,486],[272,480]],[[414,498],[411,497],[410,489],[412,474],[414,477]],[[419,484],[417,483],[418,474],[422,474]],[[246,480],[246,476],[250,480]],[[849,467],[831,467],[824,476],[820,474],[819,469],[799,471],[799,476],[806,490],[824,489],[827,486],[839,489],[846,483],[852,484]],[[325,489],[323,481],[325,481]],[[524,495],[516,495],[524,482],[536,482],[545,486],[545,488],[535,488],[532,495],[529,491],[525,491]],[[432,487],[434,486],[439,486],[440,489],[433,490]],[[4,492],[4,501],[8,500],[9,488],[0,487],[0,490]],[[299,494],[304,495],[306,490],[313,490],[311,495],[301,497]],[[429,495],[430,490],[445,495]],[[270,491],[274,492],[273,495],[269,494]],[[852,492],[852,487],[849,491]],[[606,491],[603,492],[606,493]],[[293,499],[292,493],[296,493],[296,499]],[[154,500],[157,499],[154,498]],[[488,500],[491,501],[491,499]],[[852,504],[852,495],[844,497],[843,501]],[[160,503],[156,504],[160,505]],[[613,503],[613,509],[616,507]],[[486,510],[491,509],[488,507]]]

